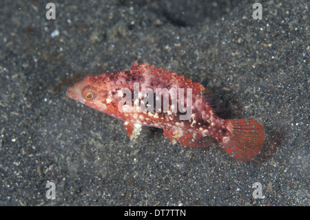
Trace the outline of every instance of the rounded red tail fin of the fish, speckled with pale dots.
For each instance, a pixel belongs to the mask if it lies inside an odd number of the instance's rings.
[[[265,131],[254,119],[228,119],[232,125],[232,137],[220,143],[237,161],[249,161],[260,152],[265,140]]]

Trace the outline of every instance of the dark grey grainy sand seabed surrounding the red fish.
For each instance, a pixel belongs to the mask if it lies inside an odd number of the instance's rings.
[[[48,20],[47,2],[1,1],[0,206],[309,206],[309,3],[261,1],[255,20],[255,1],[164,2],[55,1]],[[242,163],[151,128],[133,143],[66,97],[134,61],[202,83],[222,117],[260,121],[262,152]]]

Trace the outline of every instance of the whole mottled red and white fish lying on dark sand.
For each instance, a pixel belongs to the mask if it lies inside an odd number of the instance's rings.
[[[127,71],[92,74],[67,89],[71,99],[121,119],[136,141],[143,126],[163,129],[172,144],[203,148],[218,142],[236,161],[251,161],[265,141],[255,119],[222,119],[200,83],[147,63]],[[214,141],[213,141],[214,142]]]

